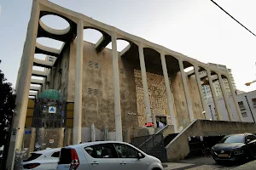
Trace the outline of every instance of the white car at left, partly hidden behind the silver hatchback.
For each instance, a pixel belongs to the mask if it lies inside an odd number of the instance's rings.
[[[61,148],[40,150],[31,153],[31,156],[21,162],[21,170],[55,170],[58,166]]]

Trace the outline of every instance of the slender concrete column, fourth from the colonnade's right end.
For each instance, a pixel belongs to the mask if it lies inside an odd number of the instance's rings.
[[[197,86],[198,86],[198,90],[199,90],[199,94],[200,94],[200,98],[201,98],[201,105],[203,107],[203,111],[206,111],[205,115],[207,119],[211,119],[212,117],[210,116],[211,113],[207,113],[208,108],[207,108],[207,103],[205,100],[205,96],[203,94],[202,88],[201,88],[201,78],[199,76],[199,67],[197,65],[194,65],[194,71],[195,71],[195,78],[196,78],[196,82],[197,82]]]

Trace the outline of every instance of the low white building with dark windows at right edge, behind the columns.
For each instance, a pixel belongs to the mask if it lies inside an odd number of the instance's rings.
[[[236,95],[237,103],[241,110],[241,115],[243,117],[243,122],[255,122],[256,121],[256,90],[244,94]],[[239,117],[236,113],[236,106],[232,96],[228,96],[228,102],[230,105],[230,110],[232,112],[232,116],[236,121],[239,121]],[[210,113],[210,117],[212,120],[217,120],[218,116],[215,112],[215,106],[212,98],[207,99],[207,110]],[[221,112],[223,119],[225,121],[229,120],[228,112],[224,104],[224,99],[222,97],[218,98],[218,108]]]

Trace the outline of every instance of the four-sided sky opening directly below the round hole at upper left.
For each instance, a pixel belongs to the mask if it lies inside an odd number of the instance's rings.
[[[44,47],[55,48],[57,50],[61,50],[61,48],[64,45],[64,42],[61,42],[52,38],[48,38],[48,37],[38,37],[37,42],[43,45]]]

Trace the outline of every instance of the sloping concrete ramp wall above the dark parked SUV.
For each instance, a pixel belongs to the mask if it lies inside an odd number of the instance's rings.
[[[251,122],[208,120],[196,120],[191,122],[170,144],[166,145],[167,161],[181,160],[189,154],[188,137],[216,136],[234,133],[256,133],[256,124]]]

